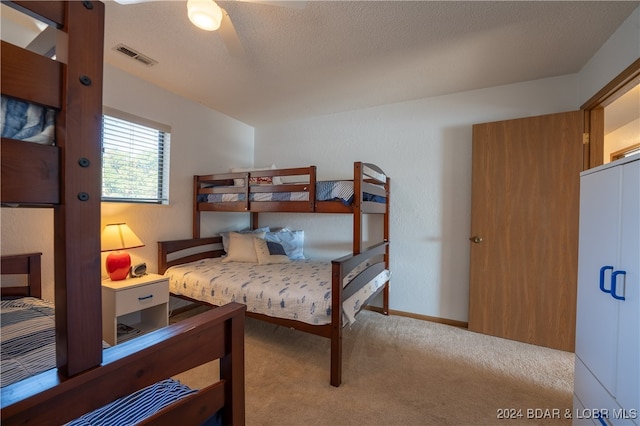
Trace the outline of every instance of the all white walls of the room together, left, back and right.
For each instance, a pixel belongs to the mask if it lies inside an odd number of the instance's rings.
[[[255,129],[105,67],[104,103],[172,127],[169,206],[102,205],[103,225],[126,221],[146,247],[134,262],[156,269],[156,241],[191,235],[192,175],[229,167],[315,164],[320,179],[349,178],[353,161],[392,178],[391,307],[467,320],[471,126],[577,109],[640,56],[637,9],[576,75],[470,91]],[[255,139],[255,147],[254,147]],[[255,152],[254,152],[255,151]],[[2,254],[42,251],[45,297],[53,297],[52,213],[2,208]],[[266,216],[266,215],[265,215]],[[245,215],[205,215],[203,235],[237,229]],[[269,215],[264,224],[306,232],[306,253],[350,251],[350,218]]]

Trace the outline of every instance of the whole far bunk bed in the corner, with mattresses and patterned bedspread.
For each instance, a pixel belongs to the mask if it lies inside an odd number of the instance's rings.
[[[250,317],[329,338],[330,383],[339,386],[343,326],[380,293],[382,313],[389,311],[389,189],[390,178],[382,169],[363,162],[354,163],[353,179],[340,181],[317,181],[315,166],[195,176],[194,238],[159,242],[159,272],[169,276],[177,297],[214,306],[238,300],[247,304]],[[223,238],[200,235],[201,215],[210,211],[249,212],[257,230],[262,212],[350,214],[353,251],[331,262],[260,261],[232,268],[233,262],[219,259],[229,257]],[[365,214],[383,215],[381,241],[366,248]],[[267,288],[266,282],[274,286]],[[284,282],[288,284],[281,285]],[[296,307],[279,309],[284,305]]]

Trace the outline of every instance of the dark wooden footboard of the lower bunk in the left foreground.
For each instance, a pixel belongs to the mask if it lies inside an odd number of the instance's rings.
[[[99,366],[71,378],[55,370],[2,389],[2,424],[64,424],[159,380],[216,359],[213,385],[172,404],[156,424],[201,424],[219,409],[225,425],[243,425],[244,312],[230,303],[104,351]],[[180,419],[180,421],[174,421]]]

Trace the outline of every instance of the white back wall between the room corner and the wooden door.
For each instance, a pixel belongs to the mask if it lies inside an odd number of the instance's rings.
[[[349,178],[353,162],[391,177],[391,309],[467,320],[471,126],[575,108],[577,76],[513,84],[256,128],[256,164],[314,164]],[[261,215],[304,229],[306,254],[351,250],[351,218]]]

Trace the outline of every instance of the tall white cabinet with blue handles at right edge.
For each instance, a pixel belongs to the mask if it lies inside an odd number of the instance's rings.
[[[640,424],[639,270],[634,156],[580,178],[574,424]]]

